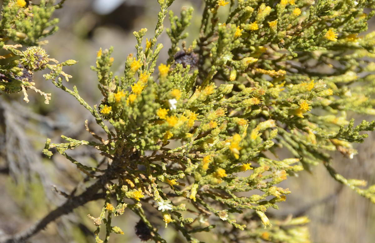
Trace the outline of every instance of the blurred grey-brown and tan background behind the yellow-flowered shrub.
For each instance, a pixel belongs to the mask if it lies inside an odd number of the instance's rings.
[[[171,10],[177,14],[183,6],[195,9],[188,29],[187,45],[190,45],[198,35],[202,0],[176,0]],[[145,37],[150,39],[158,12],[156,0],[67,0],[63,9],[55,12],[55,17],[60,19],[60,30],[48,37],[49,44],[45,49],[58,61],[79,61],[66,67],[65,72],[73,76],[66,86],[76,85],[84,100],[90,105],[98,104],[102,96],[97,89],[96,74],[90,70],[95,64],[96,52],[99,48],[114,46],[112,70],[115,75],[121,75],[126,56],[135,54],[132,32],[147,28]],[[164,24],[168,27],[168,17]],[[374,30],[375,25],[370,23],[369,27],[369,31]],[[165,32],[158,42],[164,45],[159,59],[165,60],[170,46]],[[0,97],[0,235],[26,229],[62,204],[65,198],[57,191],[69,193],[77,187],[80,192],[85,186],[83,174],[71,162],[59,155],[46,160],[41,151],[47,137],[53,142],[60,142],[61,134],[89,139],[84,121],[89,119],[92,124],[93,119],[73,97],[46,82],[42,74],[34,76],[34,81],[37,88],[52,93],[49,105],[44,104],[43,97],[32,92],[29,92],[28,104],[23,102],[22,94]],[[95,129],[95,124],[91,127]],[[333,154],[333,166],[347,178],[375,184],[375,135],[370,134],[357,149],[359,154],[353,160],[339,153]],[[83,148],[75,149],[69,155],[84,164],[101,160],[96,151]],[[303,171],[299,177],[283,183],[282,186],[290,188],[292,193],[286,202],[279,204],[279,210],[270,213],[281,219],[288,215],[308,215],[312,242],[374,242],[375,205],[339,185],[323,165],[315,167],[312,173]],[[49,224],[30,242],[93,242],[96,227],[87,214],[98,216],[102,205],[103,200],[99,200],[75,209],[74,213]],[[126,215],[114,218],[114,225],[125,234],[111,236],[110,242],[140,242],[134,233],[136,222],[138,218],[130,210]],[[160,225],[160,233],[168,243],[184,242],[172,227],[164,229]],[[212,235],[201,233],[199,236],[204,242],[218,242]]]

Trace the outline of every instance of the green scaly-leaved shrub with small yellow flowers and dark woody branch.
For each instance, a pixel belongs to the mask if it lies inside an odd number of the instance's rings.
[[[92,141],[46,141],[47,157],[55,148],[93,184],[10,241],[27,239],[72,209],[105,198],[101,214],[89,215],[97,243],[123,234],[111,219],[125,210],[139,216],[141,240],[165,242],[160,225],[148,219],[152,213],[188,242],[199,242],[195,235],[215,226],[223,242],[308,242],[307,217],[281,222],[267,217],[267,209],[279,209],[291,193],[281,187],[283,180],[318,164],[375,203],[375,186],[363,188],[365,181],[338,174],[330,155],[339,151],[353,158],[352,144],[375,129],[375,121],[356,125],[347,115],[375,114],[375,32],[364,33],[375,1],[205,0],[199,37],[190,45],[183,40],[193,9],[182,9],[178,17],[167,10],[173,0],[158,1],[154,35],[145,39],[145,28],[133,33],[137,52],[127,56],[124,75],[111,72],[113,48],[98,51],[92,70],[103,98],[93,107],[63,82],[62,76],[71,76],[62,67],[76,61],[50,64],[57,61],[39,46],[41,37],[57,30],[57,20],[49,18],[61,4],[5,1],[1,47],[9,52],[3,57],[12,59],[1,66],[1,89],[23,91],[25,100],[26,89],[33,89],[48,103],[50,95],[34,86],[32,75],[50,69],[45,78],[74,96],[105,134],[86,125]],[[166,15],[172,45],[168,60],[157,65]],[[10,40],[31,47],[20,51],[20,44],[5,44]],[[99,150],[108,164],[76,161],[67,151],[78,146]],[[284,151],[290,158],[275,159]]]

